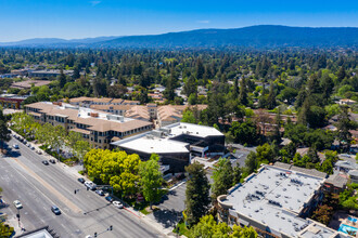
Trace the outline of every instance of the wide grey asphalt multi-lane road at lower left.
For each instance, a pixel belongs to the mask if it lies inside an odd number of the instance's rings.
[[[0,158],[0,187],[2,197],[10,206],[1,209],[8,219],[14,220],[16,209],[12,202],[23,203],[20,210],[21,226],[26,230],[49,226],[61,238],[86,237],[98,233],[98,237],[164,237],[136,214],[116,209],[104,197],[86,190],[77,176],[66,172],[62,164],[44,166],[39,156],[16,140],[9,143],[11,156]],[[75,189],[80,189],[76,195]],[[62,214],[51,212],[57,206]],[[107,228],[113,225],[113,230]]]

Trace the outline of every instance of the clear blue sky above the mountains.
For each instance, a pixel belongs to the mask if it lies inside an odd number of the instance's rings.
[[[0,42],[253,25],[358,27],[358,0],[0,0]]]

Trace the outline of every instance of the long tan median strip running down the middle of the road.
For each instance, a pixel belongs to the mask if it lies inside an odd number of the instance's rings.
[[[54,189],[49,183],[47,183],[42,177],[40,177],[38,174],[36,174],[34,171],[31,171],[27,166],[25,166],[23,162],[21,162],[18,159],[12,157],[13,160],[15,160],[24,170],[27,171],[27,173],[37,180],[40,184],[42,184],[43,187],[46,187],[50,193],[52,193],[55,197],[57,197],[64,204],[66,204],[73,212],[81,213],[82,210],[79,209],[75,203],[69,201],[65,196],[63,196],[60,191]]]

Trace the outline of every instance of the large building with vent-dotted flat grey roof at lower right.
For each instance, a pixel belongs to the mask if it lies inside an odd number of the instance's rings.
[[[324,177],[265,164],[218,197],[219,219],[264,237],[346,237],[307,219],[323,198]]]

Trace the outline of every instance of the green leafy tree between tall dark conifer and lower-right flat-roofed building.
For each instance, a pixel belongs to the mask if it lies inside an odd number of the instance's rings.
[[[216,198],[227,194],[228,189],[233,184],[233,170],[230,160],[220,158],[215,164],[212,177],[214,180],[212,185],[212,198],[215,202]]]

